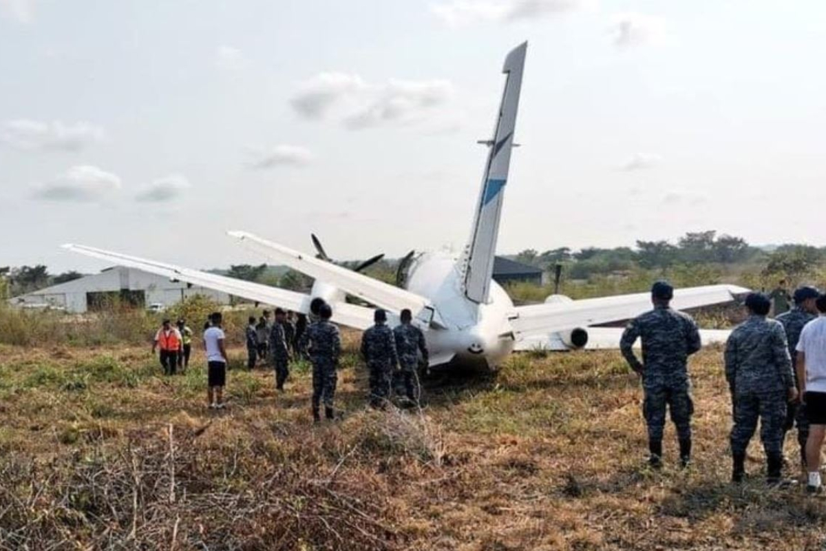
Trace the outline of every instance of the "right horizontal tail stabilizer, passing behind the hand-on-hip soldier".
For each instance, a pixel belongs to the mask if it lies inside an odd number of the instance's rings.
[[[672,307],[677,310],[731,302],[735,295],[749,292],[736,285],[687,287],[674,292]],[[553,302],[517,306],[518,317],[511,321],[517,340],[548,335],[577,327],[629,320],[651,308],[648,292],[616,297],[587,298],[582,301]],[[588,330],[589,335],[591,329]]]

